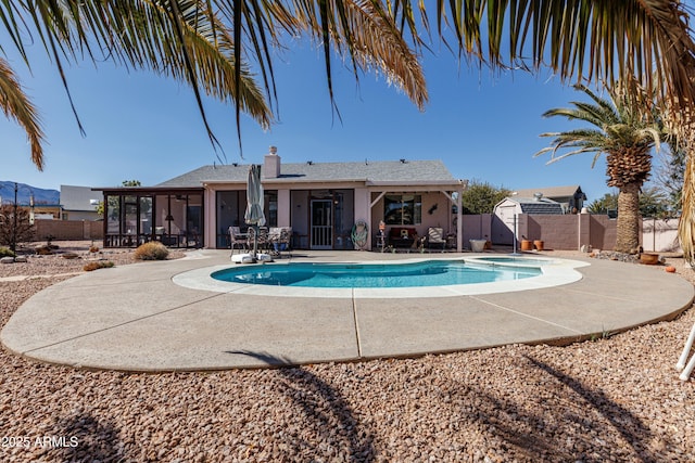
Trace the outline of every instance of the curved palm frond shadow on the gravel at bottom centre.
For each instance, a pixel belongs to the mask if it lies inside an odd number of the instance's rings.
[[[371,462],[375,460],[374,436],[355,417],[339,390],[302,366],[290,366],[288,359],[247,350],[228,353],[249,356],[279,368],[285,382],[278,384],[296,411],[296,421],[323,437],[316,441],[303,438],[287,440],[286,461],[299,461],[311,455],[312,461]],[[317,447],[317,442],[320,446]],[[250,455],[252,458],[252,455]]]

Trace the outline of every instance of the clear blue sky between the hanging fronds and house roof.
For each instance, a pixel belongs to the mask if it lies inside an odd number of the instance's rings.
[[[0,180],[49,189],[113,187],[130,179],[151,185],[218,163],[188,87],[110,63],[72,66],[66,75],[87,133],[81,137],[58,72],[38,47],[31,56],[33,73],[9,57],[40,110],[46,168],[37,171],[24,132],[0,118]],[[331,113],[321,51],[299,43],[275,64],[280,121],[263,132],[244,118],[243,159],[233,108],[205,101],[227,162],[261,163],[268,146],[277,145],[285,163],[442,159],[456,178],[510,190],[580,184],[589,201],[610,191],[603,158],[592,169],[591,155],[552,165],[547,155],[532,157],[549,142],[540,133],[576,127],[541,114],[582,98],[548,72],[493,74],[459,66],[446,50],[427,53],[430,102],[421,113],[382,77],[363,75],[357,85],[349,69],[333,64],[342,123]]]

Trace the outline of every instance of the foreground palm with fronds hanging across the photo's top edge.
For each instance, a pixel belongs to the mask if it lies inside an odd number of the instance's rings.
[[[0,50],[14,46],[23,53],[25,25],[31,24],[59,68],[86,53],[96,63],[105,57],[188,82],[213,141],[201,91],[233,104],[237,128],[242,111],[269,124],[271,51],[299,34],[324,49],[331,99],[332,48],[350,57],[355,76],[378,69],[422,105],[427,90],[416,52],[428,48],[422,37],[431,36],[432,26],[452,50],[494,68],[549,67],[564,80],[643,85],[681,115],[682,139],[695,137],[695,42],[680,0],[11,0],[0,3],[0,20],[12,41]],[[7,99],[0,95],[0,103]],[[33,120],[25,130],[39,127]],[[38,146],[36,162],[42,157]],[[687,164],[681,245],[695,260],[695,241],[683,242],[695,236],[692,153]]]

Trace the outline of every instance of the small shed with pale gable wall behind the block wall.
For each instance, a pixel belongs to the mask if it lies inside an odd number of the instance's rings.
[[[536,193],[532,197],[509,196],[495,205],[492,216],[492,242],[495,244],[514,243],[514,230],[519,214],[564,215],[564,206]],[[519,240],[520,236],[517,236]]]

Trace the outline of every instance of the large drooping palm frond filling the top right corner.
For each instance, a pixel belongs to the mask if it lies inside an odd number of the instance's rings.
[[[396,3],[397,13],[412,20],[415,0]],[[656,91],[681,110],[695,102],[695,42],[684,2],[452,0],[427,9],[435,11],[438,24],[454,29],[462,52],[493,67],[549,66],[566,81],[623,80]],[[403,24],[417,36],[413,21]],[[505,38],[508,47],[500,47]]]

